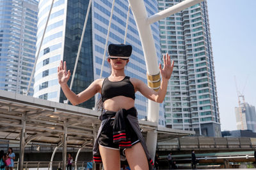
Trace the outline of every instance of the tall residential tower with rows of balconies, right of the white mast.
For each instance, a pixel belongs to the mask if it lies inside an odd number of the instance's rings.
[[[158,0],[159,11],[181,0]],[[161,50],[174,60],[164,100],[166,126],[221,136],[207,2],[160,22]]]

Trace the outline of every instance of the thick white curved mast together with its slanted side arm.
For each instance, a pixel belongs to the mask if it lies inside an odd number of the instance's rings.
[[[159,73],[157,56],[156,56],[156,46],[154,45],[154,39],[152,36],[152,31],[150,24],[157,22],[164,17],[173,15],[174,13],[184,10],[189,6],[200,3],[203,0],[186,0],[175,6],[172,6],[164,11],[156,13],[152,17],[148,17],[147,10],[143,0],[128,0],[132,13],[134,15],[134,20],[136,22],[138,32],[140,34],[141,45],[145,55],[145,62],[147,66],[147,73],[149,75],[157,75]],[[158,123],[159,117],[159,104],[148,100],[148,120],[150,122]],[[156,143],[157,143],[157,132],[150,131],[147,133],[147,145],[151,157],[154,159],[156,153]]]

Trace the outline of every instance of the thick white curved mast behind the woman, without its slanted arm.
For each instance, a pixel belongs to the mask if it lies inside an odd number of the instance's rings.
[[[131,5],[134,20],[136,22],[138,32],[141,39],[145,62],[147,66],[147,73],[156,75],[159,73],[158,61],[156,55],[156,46],[150,25],[147,24],[147,11],[143,0],[128,0]],[[148,120],[150,122],[158,122],[159,104],[148,100]],[[155,157],[157,143],[157,132],[148,132],[147,147],[152,159]]]

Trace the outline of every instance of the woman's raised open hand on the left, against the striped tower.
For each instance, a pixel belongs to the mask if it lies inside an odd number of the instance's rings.
[[[60,85],[67,83],[67,81],[70,78],[70,75],[71,75],[70,70],[67,71],[66,62],[64,61],[64,64],[63,64],[63,61],[61,60],[60,66],[58,67],[58,80]]]

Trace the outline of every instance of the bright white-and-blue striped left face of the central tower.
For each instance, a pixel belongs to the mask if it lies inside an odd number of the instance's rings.
[[[44,32],[52,1],[42,0],[38,5],[38,31],[36,49],[38,50]],[[45,31],[44,41],[39,52],[35,70],[34,97],[60,101],[57,67],[63,59],[65,41],[65,22],[67,1],[56,0],[52,6],[51,16]]]

